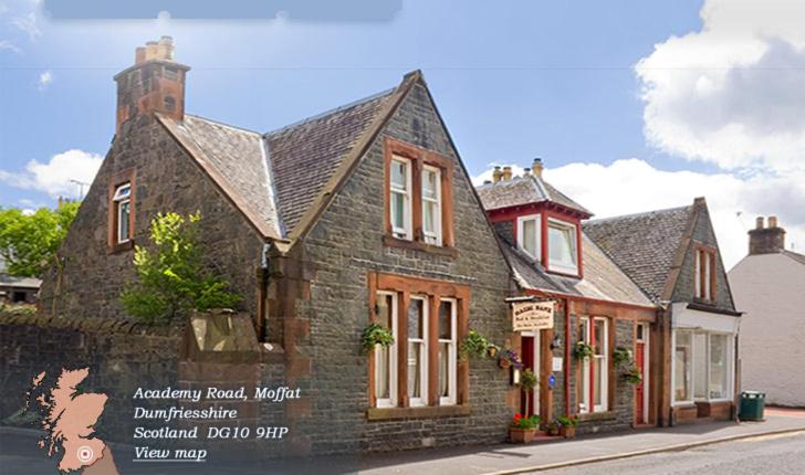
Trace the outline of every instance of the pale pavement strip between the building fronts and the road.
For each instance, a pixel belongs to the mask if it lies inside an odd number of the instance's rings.
[[[585,435],[572,441],[483,448],[439,448],[365,456],[360,474],[503,475],[586,465],[683,451],[761,435],[805,433],[805,410],[769,408],[762,422],[713,422],[623,433]],[[611,472],[617,473],[617,472]],[[700,472],[702,473],[702,472]]]

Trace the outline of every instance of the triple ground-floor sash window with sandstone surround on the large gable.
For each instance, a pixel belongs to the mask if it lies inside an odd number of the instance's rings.
[[[369,353],[369,420],[469,414],[469,362],[458,342],[469,331],[466,285],[369,273],[369,321],[395,342]]]

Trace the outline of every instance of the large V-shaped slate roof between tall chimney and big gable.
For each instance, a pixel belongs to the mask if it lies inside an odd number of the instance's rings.
[[[400,87],[268,134],[187,114],[158,117],[264,236],[283,239]]]

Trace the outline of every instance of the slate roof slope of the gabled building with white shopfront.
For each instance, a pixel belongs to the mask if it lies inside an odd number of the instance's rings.
[[[693,207],[587,221],[583,230],[649,296],[658,302]]]

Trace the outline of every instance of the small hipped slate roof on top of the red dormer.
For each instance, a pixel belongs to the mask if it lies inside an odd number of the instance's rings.
[[[496,183],[482,184],[477,190],[483,208],[487,211],[539,203],[542,201],[553,201],[563,207],[581,211],[588,217],[593,215],[586,208],[573,201],[547,181],[543,180],[542,177],[533,175],[513,177],[509,180],[500,180]]]

